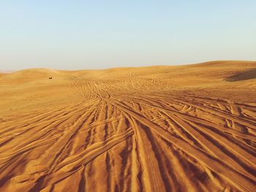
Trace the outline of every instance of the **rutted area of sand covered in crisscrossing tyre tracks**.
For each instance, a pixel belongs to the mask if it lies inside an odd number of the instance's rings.
[[[256,105],[129,76],[1,122],[0,191],[255,190]]]

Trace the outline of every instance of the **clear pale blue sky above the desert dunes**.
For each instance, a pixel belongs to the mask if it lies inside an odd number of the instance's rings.
[[[255,0],[0,0],[0,70],[256,61]]]

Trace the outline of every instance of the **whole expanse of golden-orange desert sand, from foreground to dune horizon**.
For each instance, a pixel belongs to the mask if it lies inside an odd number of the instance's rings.
[[[255,69],[1,73],[0,191],[255,191]]]

